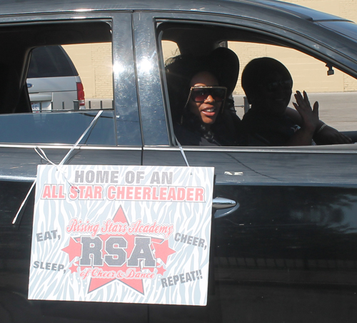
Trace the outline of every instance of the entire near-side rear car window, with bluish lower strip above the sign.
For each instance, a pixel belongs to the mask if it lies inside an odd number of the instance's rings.
[[[0,39],[0,142],[73,144],[105,109],[83,142],[115,144],[110,21],[0,26]]]

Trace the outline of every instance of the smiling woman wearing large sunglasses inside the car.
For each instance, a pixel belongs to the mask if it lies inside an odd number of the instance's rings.
[[[234,146],[237,123],[228,108],[238,79],[239,61],[220,47],[208,56],[180,55],[166,61],[176,140],[184,146]]]

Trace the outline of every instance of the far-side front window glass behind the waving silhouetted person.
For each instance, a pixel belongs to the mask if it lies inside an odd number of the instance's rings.
[[[357,99],[357,80],[352,76],[338,69],[333,69],[333,74],[328,75],[326,63],[295,49],[238,41],[228,41],[228,48],[238,55],[241,64],[233,92],[236,111],[241,118],[244,115],[245,96],[241,87],[242,71],[251,59],[268,56],[281,61],[288,68],[293,78],[293,93],[304,90],[312,103],[319,102],[321,120],[339,131],[356,130],[357,115],[353,109]],[[291,96],[288,106],[293,108],[294,101]]]

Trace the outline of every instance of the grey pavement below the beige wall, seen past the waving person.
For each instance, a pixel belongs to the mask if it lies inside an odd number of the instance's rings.
[[[237,114],[242,118],[243,95],[233,97]],[[329,126],[339,131],[357,130],[357,92],[309,93],[308,98],[311,105],[318,101],[319,117]],[[289,106],[293,108],[292,102]]]

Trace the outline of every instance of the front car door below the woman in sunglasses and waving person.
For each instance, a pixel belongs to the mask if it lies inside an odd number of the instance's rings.
[[[356,44],[346,40],[342,45],[343,39],[338,37],[335,44],[328,44],[326,30],[314,26],[308,30],[304,19],[295,16],[284,22],[276,15],[270,18],[274,23],[267,23],[266,15],[268,11],[259,20],[257,13],[254,19],[195,12],[134,14],[136,64],[149,66],[138,69],[143,164],[214,167],[213,197],[236,202],[234,209],[216,213],[213,219],[207,307],[151,306],[149,318],[154,322],[164,322],[162,317],[166,322],[169,318],[185,322],[353,322],[357,317],[357,157],[353,145],[174,144],[162,72],[160,33],[165,23],[181,24],[182,31],[193,24],[197,28],[206,25],[207,34],[214,34],[224,21],[231,32],[251,32],[255,42],[272,37],[292,49],[339,61],[340,69],[356,76],[352,54]],[[187,34],[194,37],[191,31]],[[313,36],[320,37],[318,46]]]

